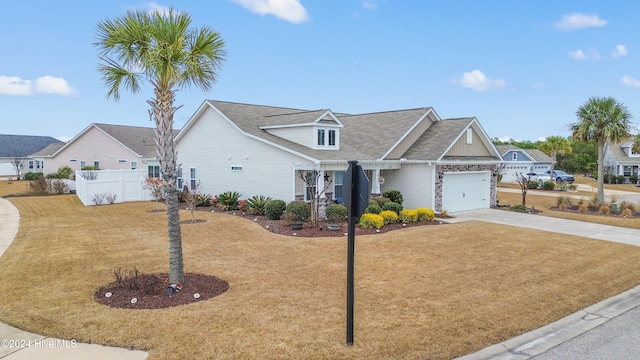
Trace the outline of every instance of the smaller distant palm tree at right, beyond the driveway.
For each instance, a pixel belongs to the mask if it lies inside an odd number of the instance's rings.
[[[613,97],[592,97],[576,111],[578,122],[570,124],[574,140],[598,145],[598,203],[604,202],[604,146],[629,136],[631,113]]]

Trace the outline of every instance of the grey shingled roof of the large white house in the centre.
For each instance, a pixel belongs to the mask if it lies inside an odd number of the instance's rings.
[[[311,160],[321,161],[383,159],[403,139],[410,134],[415,135],[412,134],[412,130],[419,124],[426,125],[421,128],[427,130],[424,134],[419,134],[416,143],[407,145],[409,150],[406,152],[408,154],[406,157],[415,160],[440,159],[455,139],[461,136],[462,131],[469,124],[477,121],[475,118],[441,121],[431,107],[345,114],[334,113],[328,109],[302,110],[206,100],[177,135],[177,142],[180,141],[183,134],[189,131],[206,109],[214,109],[232,126],[249,137]],[[342,127],[338,150],[313,149],[268,131],[268,129],[276,127],[313,125],[327,116],[335,120],[336,126]],[[429,123],[424,123],[425,121]],[[482,133],[484,134],[483,130]],[[484,135],[486,136],[486,134]],[[492,145],[490,144],[490,146]]]

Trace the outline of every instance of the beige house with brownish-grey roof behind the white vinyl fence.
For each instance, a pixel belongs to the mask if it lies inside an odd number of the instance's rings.
[[[102,170],[147,168],[150,176],[159,177],[154,132],[153,128],[91,124],[63,146],[45,148],[31,157],[45,164],[45,174],[62,166],[74,172],[91,166]]]

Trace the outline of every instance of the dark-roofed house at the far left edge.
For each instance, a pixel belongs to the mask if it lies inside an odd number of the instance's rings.
[[[50,136],[0,135],[0,176],[17,175],[14,164],[22,166],[21,174],[41,172],[44,165],[29,159],[29,155],[50,145],[63,144]]]

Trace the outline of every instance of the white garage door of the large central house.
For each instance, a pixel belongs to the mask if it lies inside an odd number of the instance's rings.
[[[444,174],[442,209],[452,213],[489,208],[490,175],[488,171]]]

